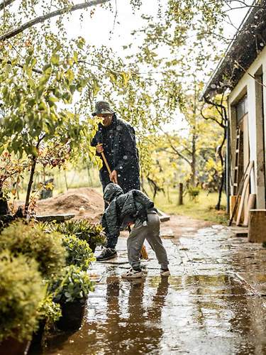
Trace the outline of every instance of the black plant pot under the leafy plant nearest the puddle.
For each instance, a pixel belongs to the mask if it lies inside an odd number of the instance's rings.
[[[78,300],[74,302],[60,302],[62,317],[56,322],[56,326],[60,330],[76,330],[82,325],[84,317],[86,300]]]

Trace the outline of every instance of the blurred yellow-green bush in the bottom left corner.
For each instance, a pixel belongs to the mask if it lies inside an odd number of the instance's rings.
[[[38,324],[38,305],[45,296],[38,264],[4,251],[0,270],[0,342],[7,337],[31,339]]]

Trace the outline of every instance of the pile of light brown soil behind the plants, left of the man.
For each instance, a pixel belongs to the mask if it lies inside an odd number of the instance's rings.
[[[84,207],[83,214],[79,212],[80,207]],[[103,211],[102,196],[89,187],[70,189],[56,197],[39,200],[36,208],[37,214],[75,214],[75,218],[92,222],[98,222]]]

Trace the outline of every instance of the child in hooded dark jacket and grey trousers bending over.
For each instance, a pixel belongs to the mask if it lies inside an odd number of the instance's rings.
[[[121,187],[113,183],[104,189],[104,200],[109,203],[101,219],[107,243],[97,260],[104,261],[116,257],[116,244],[120,231],[134,224],[127,239],[128,262],[131,269],[123,273],[122,278],[142,277],[140,249],[145,239],[155,251],[161,266],[160,274],[169,276],[167,253],[160,239],[160,219],[153,201],[139,190],[131,190],[123,194]]]

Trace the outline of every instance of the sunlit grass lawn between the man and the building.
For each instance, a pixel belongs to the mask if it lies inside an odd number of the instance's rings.
[[[209,193],[201,190],[196,201],[189,199],[185,195],[184,204],[177,205],[178,193],[177,190],[170,191],[170,200],[162,192],[155,197],[155,204],[157,208],[168,214],[182,214],[184,216],[193,217],[195,219],[204,219],[204,221],[216,222],[218,224],[226,224],[228,222],[228,214],[226,214],[226,195],[222,196],[222,209],[216,211],[214,208],[218,201],[218,193]]]

